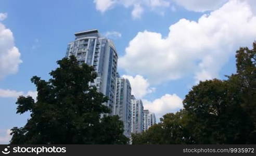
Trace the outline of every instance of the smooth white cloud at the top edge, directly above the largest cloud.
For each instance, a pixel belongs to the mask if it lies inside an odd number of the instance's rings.
[[[220,8],[228,0],[173,0],[190,11],[204,12]]]

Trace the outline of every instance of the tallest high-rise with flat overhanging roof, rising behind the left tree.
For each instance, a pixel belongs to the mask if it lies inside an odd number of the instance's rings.
[[[79,63],[93,66],[98,74],[94,83],[98,92],[108,96],[104,103],[113,114],[117,78],[117,50],[111,40],[101,37],[98,30],[76,32],[75,41],[68,44],[66,57],[74,55]]]

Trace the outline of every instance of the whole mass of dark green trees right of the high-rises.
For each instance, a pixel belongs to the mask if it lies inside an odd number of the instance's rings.
[[[236,52],[237,73],[200,82],[184,109],[163,116],[133,144],[256,144],[256,43]]]

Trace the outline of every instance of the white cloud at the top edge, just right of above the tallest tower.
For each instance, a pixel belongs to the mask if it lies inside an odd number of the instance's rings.
[[[168,7],[170,2],[165,0],[94,0],[96,9],[105,12],[114,6],[123,6],[125,8],[132,7],[131,12],[134,19],[140,18],[143,14],[144,8],[155,9],[159,7]]]

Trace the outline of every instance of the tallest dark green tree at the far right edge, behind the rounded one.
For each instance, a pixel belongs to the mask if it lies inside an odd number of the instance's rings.
[[[238,80],[241,92],[241,106],[249,114],[254,124],[250,141],[256,142],[256,42],[253,48],[242,47],[236,54],[237,73],[229,79]]]

